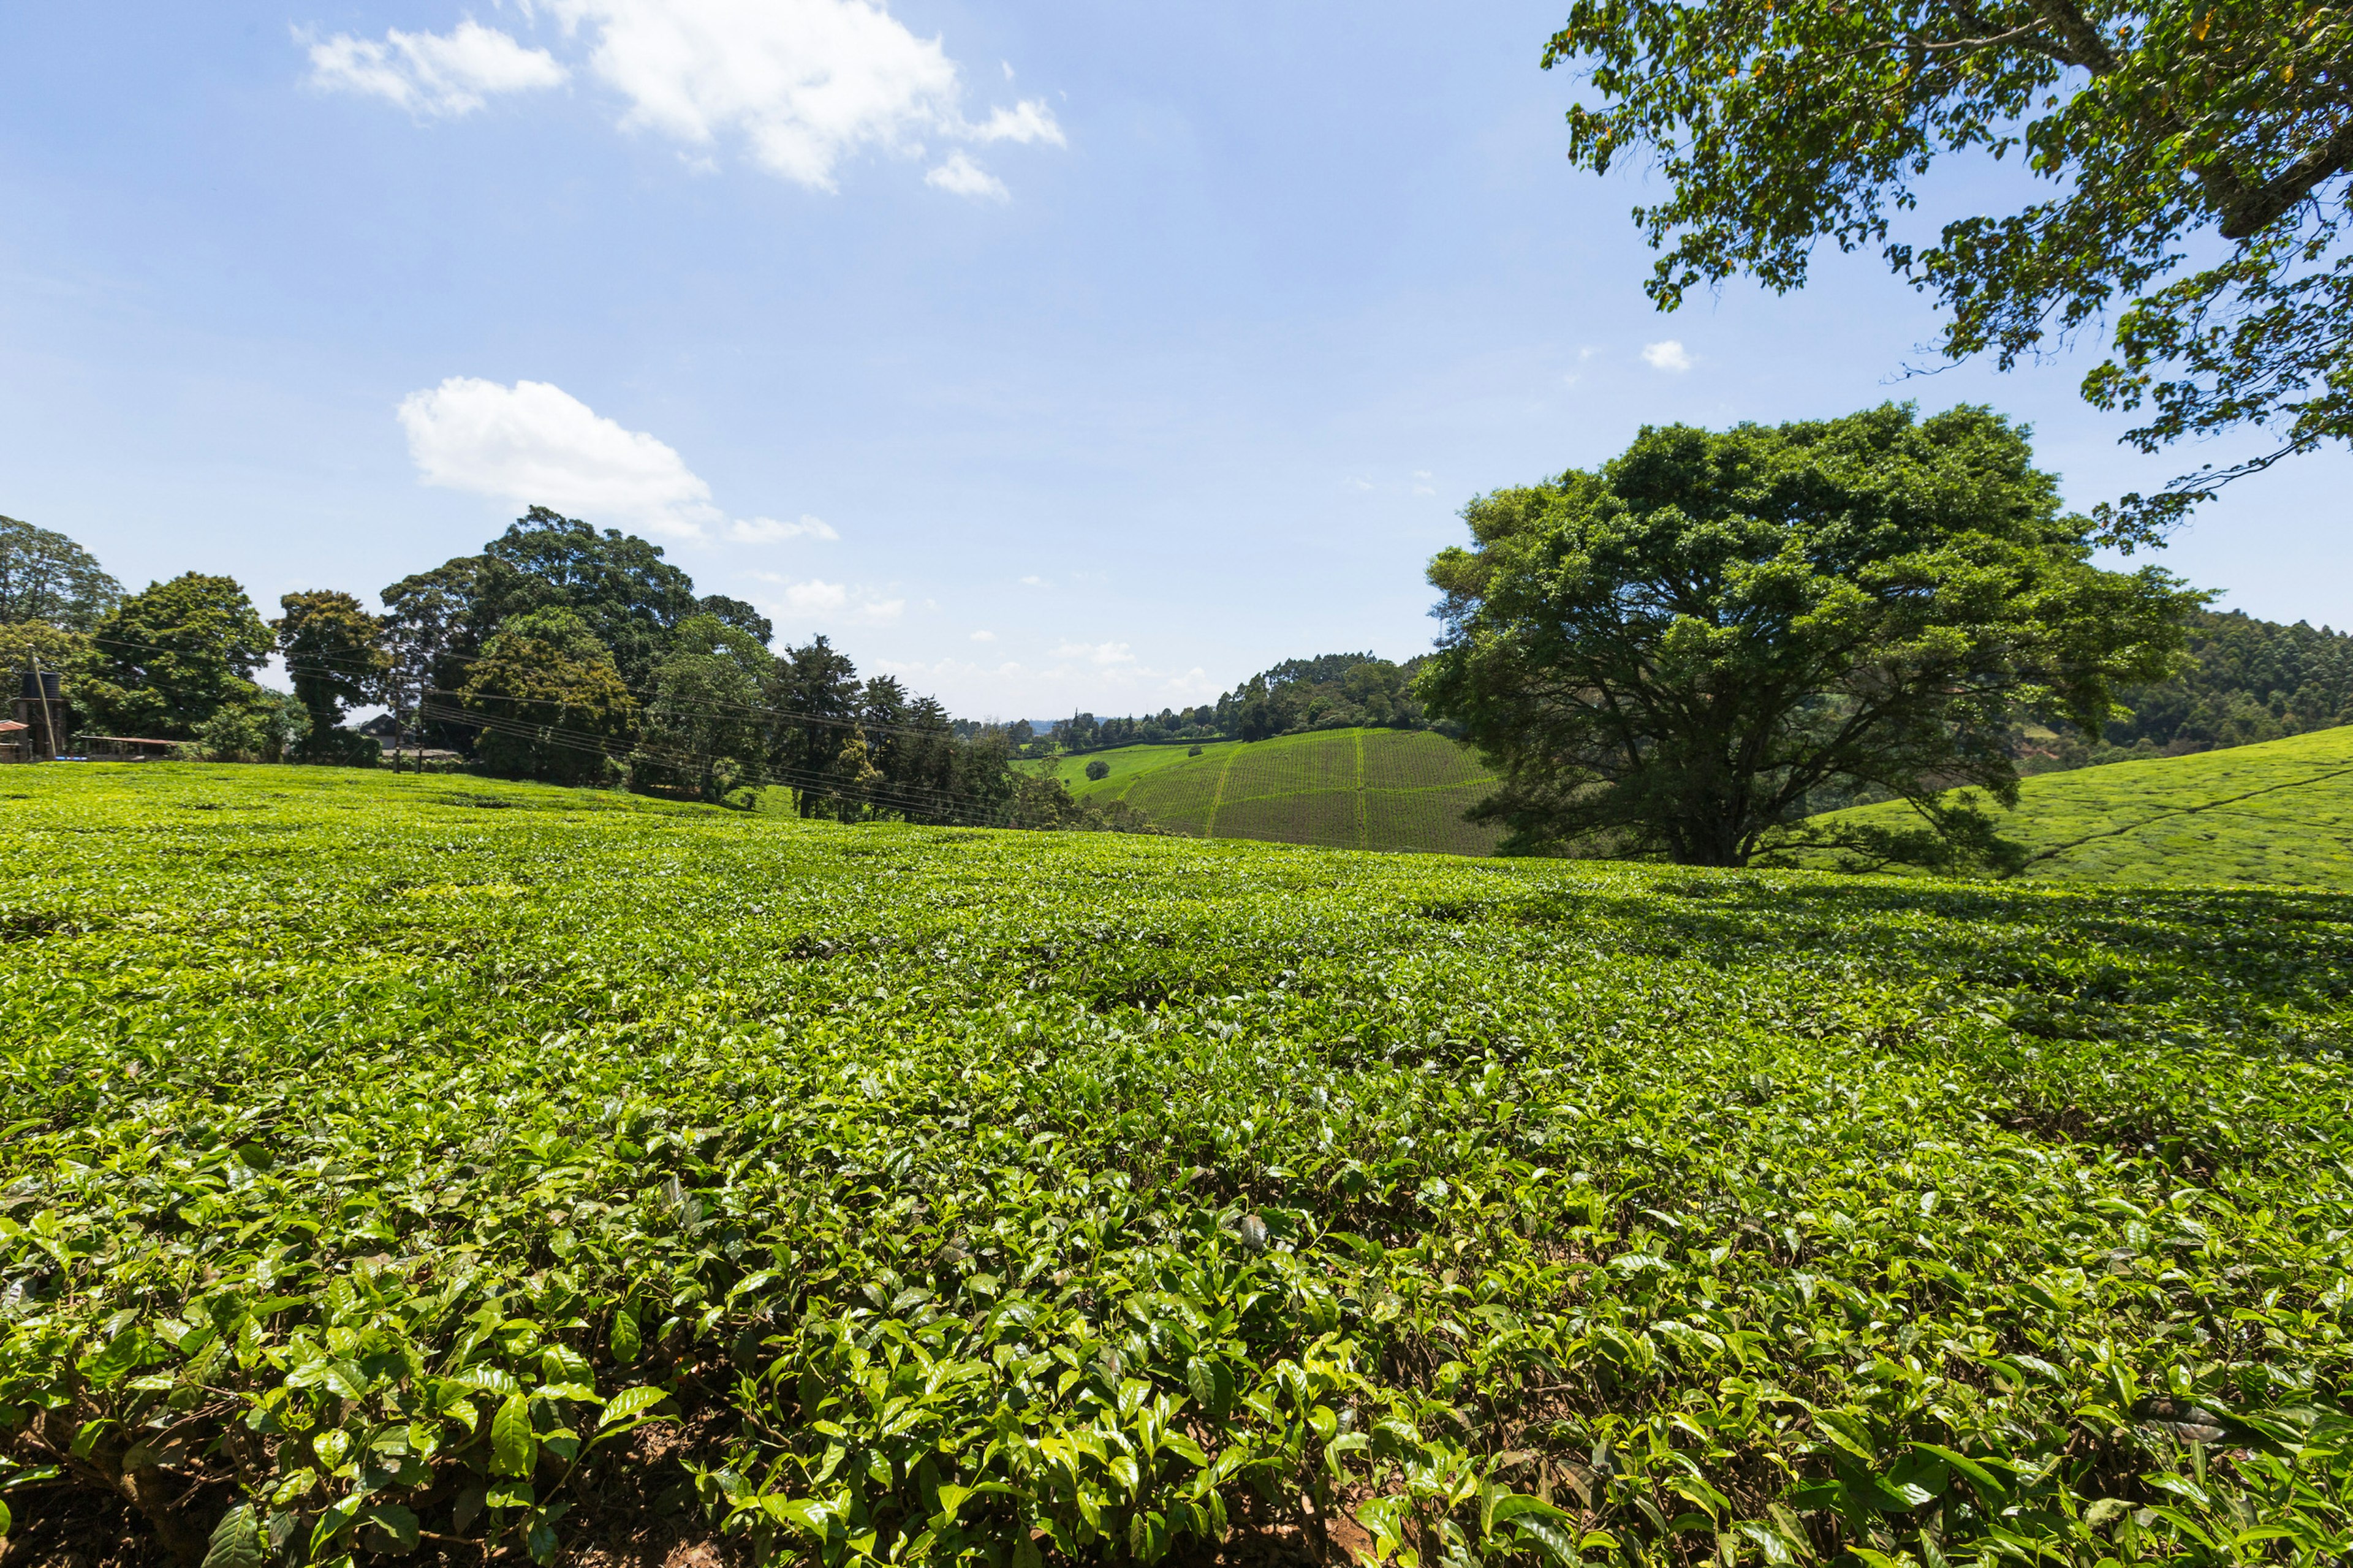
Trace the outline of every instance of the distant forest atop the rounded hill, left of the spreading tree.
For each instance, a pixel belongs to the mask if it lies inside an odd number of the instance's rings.
[[[1402,665],[1372,654],[1285,658],[1200,708],[1162,708],[1127,719],[1080,712],[1054,724],[1066,752],[1155,741],[1266,741],[1308,729],[1431,729],[1414,698],[1421,658]]]

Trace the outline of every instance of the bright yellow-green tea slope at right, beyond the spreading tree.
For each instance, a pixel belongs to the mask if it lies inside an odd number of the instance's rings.
[[[2033,849],[2026,875],[2042,882],[2353,889],[2353,729],[2040,773],[2002,832]]]

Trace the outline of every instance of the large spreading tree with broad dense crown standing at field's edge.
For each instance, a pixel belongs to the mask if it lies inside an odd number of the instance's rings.
[[[1953,865],[2005,853],[2021,715],[2099,733],[2200,602],[2089,564],[2026,433],[1984,409],[1649,428],[1617,461],[1473,501],[1431,562],[1431,715],[1499,769],[1508,851],[1748,865],[1802,844]],[[1904,835],[1807,823],[1901,797]]]

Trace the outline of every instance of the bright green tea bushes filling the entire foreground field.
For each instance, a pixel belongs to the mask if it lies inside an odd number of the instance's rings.
[[[0,797],[9,1563],[2353,1552],[2353,898]]]

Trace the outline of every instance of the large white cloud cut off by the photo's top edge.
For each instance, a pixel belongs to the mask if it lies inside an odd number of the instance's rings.
[[[591,71],[631,108],[621,125],[689,148],[739,136],[772,174],[833,188],[856,150],[918,155],[953,141],[1064,146],[1045,101],[965,120],[962,82],[939,38],[918,38],[880,0],[541,0],[567,33],[591,33]],[[932,172],[958,195],[1002,186],[967,158]]]

